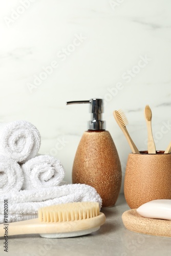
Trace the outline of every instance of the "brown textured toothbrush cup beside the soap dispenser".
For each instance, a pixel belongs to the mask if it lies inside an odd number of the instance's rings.
[[[124,196],[132,209],[152,200],[171,199],[171,154],[129,154]]]

